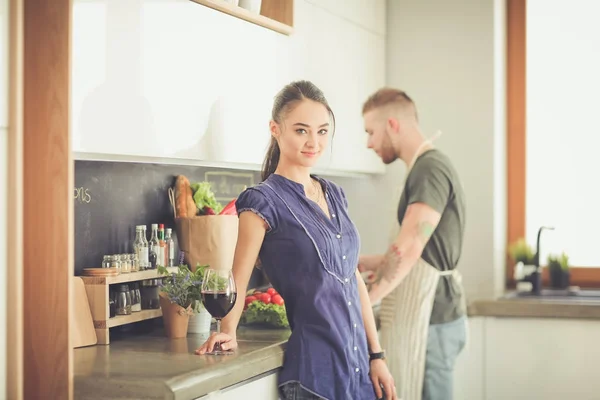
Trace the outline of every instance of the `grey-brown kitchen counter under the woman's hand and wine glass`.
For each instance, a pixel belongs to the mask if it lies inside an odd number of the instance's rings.
[[[289,330],[238,329],[233,355],[197,356],[207,335],[162,330],[74,350],[76,399],[196,399],[281,367]]]

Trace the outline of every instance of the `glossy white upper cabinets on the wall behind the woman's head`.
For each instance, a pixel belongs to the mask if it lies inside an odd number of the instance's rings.
[[[360,115],[384,83],[383,36],[304,0],[294,7],[295,32],[286,36],[188,0],[75,0],[76,157],[259,166],[273,97],[311,79],[338,122],[321,169],[383,172],[365,149]]]

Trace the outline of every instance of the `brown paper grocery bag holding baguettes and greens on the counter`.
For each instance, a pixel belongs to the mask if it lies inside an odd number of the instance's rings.
[[[169,189],[174,207],[174,196]],[[180,218],[175,215],[175,232],[184,262],[192,271],[196,266],[209,265],[213,269],[231,269],[237,243],[237,215],[198,215]]]

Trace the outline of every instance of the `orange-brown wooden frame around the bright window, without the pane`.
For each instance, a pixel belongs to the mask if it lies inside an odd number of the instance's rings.
[[[526,224],[526,54],[527,0],[506,3],[506,156],[507,243],[525,237]],[[572,286],[600,287],[600,267],[570,268]],[[506,257],[506,286],[514,288],[514,262]],[[542,268],[542,285],[548,286],[548,268]]]

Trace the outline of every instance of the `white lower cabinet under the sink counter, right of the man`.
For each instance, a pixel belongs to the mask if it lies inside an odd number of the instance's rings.
[[[486,318],[485,400],[596,400],[600,321]]]

